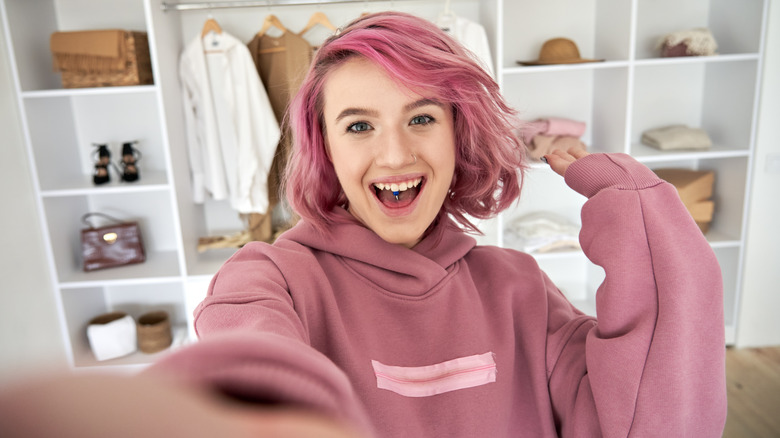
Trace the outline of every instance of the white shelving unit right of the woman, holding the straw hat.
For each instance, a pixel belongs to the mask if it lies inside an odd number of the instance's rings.
[[[623,152],[650,168],[715,172],[715,214],[708,241],[720,262],[726,341],[733,343],[742,284],[747,200],[768,2],[747,0],[498,0],[493,14],[498,80],[523,118],[559,116],[587,123],[583,141],[597,152]],[[668,32],[707,27],[718,55],[660,58]],[[583,58],[604,62],[520,66],[549,38],[574,40]],[[661,152],[640,143],[644,130],[701,127],[713,140],[702,152]],[[584,198],[544,166],[528,174],[525,197],[496,224],[545,209],[579,223]],[[581,252],[548,254],[539,263],[569,298],[595,312],[603,271]]]

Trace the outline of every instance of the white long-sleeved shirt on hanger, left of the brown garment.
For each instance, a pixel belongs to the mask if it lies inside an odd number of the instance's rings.
[[[209,194],[239,213],[264,213],[280,130],[246,46],[225,32],[198,36],[182,52],[179,77],[193,200]]]

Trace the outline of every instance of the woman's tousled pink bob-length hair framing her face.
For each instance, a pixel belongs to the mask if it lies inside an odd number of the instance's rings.
[[[452,107],[455,173],[434,224],[449,214],[465,230],[479,233],[466,215],[490,218],[518,198],[524,148],[515,133],[515,112],[496,82],[471,52],[433,23],[382,12],[356,19],[325,41],[290,104],[293,146],[285,190],[297,214],[327,232],[328,225],[338,221],[333,208],[348,206],[328,158],[323,90],[328,74],[355,57]]]

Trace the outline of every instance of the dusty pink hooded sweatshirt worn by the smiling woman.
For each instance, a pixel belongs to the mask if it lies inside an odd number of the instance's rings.
[[[201,340],[150,369],[307,406],[381,437],[715,437],[726,418],[718,262],[671,185],[623,154],[566,182],[590,198],[598,321],[534,259],[358,223],[252,243],[195,312]],[[344,212],[345,218],[348,213]]]

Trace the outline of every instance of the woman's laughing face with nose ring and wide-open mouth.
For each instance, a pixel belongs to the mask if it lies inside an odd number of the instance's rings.
[[[390,243],[416,245],[455,171],[452,110],[361,58],[328,76],[326,144],[350,213]]]

